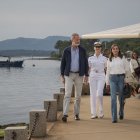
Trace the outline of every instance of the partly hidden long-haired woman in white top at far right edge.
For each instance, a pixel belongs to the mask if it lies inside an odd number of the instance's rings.
[[[140,87],[140,74],[137,75],[135,73],[135,69],[140,67],[140,62],[138,60],[138,53],[136,53],[135,51],[132,52],[132,55],[131,55],[131,59],[130,59],[130,71],[133,75],[133,77],[135,77],[138,81],[138,84],[135,88],[136,92],[138,93],[139,92],[139,87]]]

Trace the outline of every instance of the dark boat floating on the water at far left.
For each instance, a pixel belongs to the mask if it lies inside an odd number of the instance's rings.
[[[24,60],[15,60],[11,61],[11,58],[8,58],[6,61],[0,61],[0,67],[22,67]]]

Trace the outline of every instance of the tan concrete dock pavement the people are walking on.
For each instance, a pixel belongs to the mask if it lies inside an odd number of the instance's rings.
[[[46,138],[32,140],[140,140],[140,99],[126,100],[124,120],[118,119],[118,123],[111,121],[110,103],[110,96],[104,96],[104,118],[90,119],[89,96],[82,96],[80,121],[74,120],[71,103],[67,123],[59,117]]]

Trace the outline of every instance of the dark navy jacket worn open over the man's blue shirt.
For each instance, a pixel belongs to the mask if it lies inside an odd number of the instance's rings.
[[[79,76],[88,76],[88,60],[86,50],[79,47]],[[69,76],[71,66],[71,46],[67,47],[62,56],[61,60],[61,75]]]

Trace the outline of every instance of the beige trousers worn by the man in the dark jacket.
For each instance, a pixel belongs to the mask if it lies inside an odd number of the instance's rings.
[[[73,84],[75,86],[74,115],[79,115],[80,112],[80,100],[83,86],[83,76],[79,76],[79,73],[70,73],[69,76],[65,76],[65,96],[63,101],[63,115],[68,115]]]

